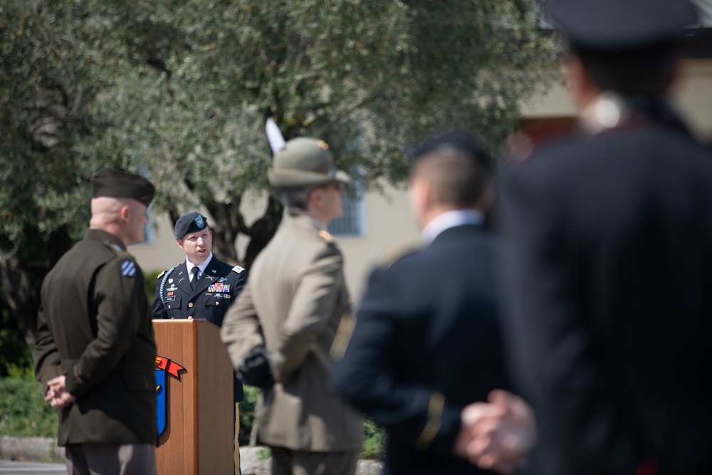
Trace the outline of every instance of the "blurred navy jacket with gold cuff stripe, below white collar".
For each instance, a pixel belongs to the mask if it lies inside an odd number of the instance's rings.
[[[483,226],[457,226],[372,273],[333,383],[389,432],[385,474],[488,473],[452,450],[461,409],[508,388],[497,254]]]

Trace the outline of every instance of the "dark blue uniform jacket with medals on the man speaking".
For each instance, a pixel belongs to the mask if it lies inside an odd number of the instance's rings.
[[[247,271],[210,259],[195,288],[190,288],[187,266],[178,266],[158,276],[151,308],[153,318],[204,318],[221,327],[228,307],[247,281]],[[234,381],[235,401],[244,398],[242,384]]]

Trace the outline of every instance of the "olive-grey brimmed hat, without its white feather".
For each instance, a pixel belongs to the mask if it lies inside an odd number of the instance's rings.
[[[346,172],[334,166],[334,158],[326,142],[307,137],[289,140],[274,155],[273,167],[267,174],[270,183],[278,188],[351,182]]]

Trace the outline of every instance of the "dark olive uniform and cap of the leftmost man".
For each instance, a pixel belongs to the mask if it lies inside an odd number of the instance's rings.
[[[94,197],[153,197],[137,175],[103,170],[92,182]],[[89,229],[48,273],[33,359],[45,387],[64,375],[76,398],[57,439],[70,473],[156,473],[156,343],[143,273],[117,236]]]

